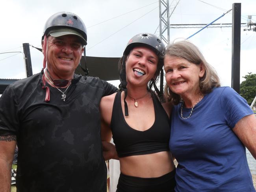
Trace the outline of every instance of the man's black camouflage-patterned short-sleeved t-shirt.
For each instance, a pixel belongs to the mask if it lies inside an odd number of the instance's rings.
[[[64,102],[62,93],[46,84],[45,102],[41,81],[41,74],[16,81],[0,98],[0,135],[17,135],[18,191],[106,191],[99,103],[116,88],[82,77],[70,85]]]

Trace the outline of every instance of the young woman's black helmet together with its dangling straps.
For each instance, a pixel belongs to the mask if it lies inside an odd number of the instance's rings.
[[[148,48],[152,49],[157,55],[158,55],[158,67],[156,74],[159,74],[160,72],[160,90],[156,87],[156,79],[151,79],[149,82],[148,89],[151,89],[152,86],[154,86],[155,91],[158,94],[158,97],[160,98],[161,102],[165,102],[163,98],[163,56],[165,54],[165,45],[163,42],[156,36],[151,33],[139,33],[132,37],[128,44],[126,45],[126,48],[124,50],[124,54],[122,57],[122,63],[120,66],[120,85],[119,89],[124,90],[124,113],[125,116],[128,116],[128,106],[125,101],[127,96],[127,82],[126,82],[126,71],[125,71],[125,60],[127,55],[130,54],[130,51],[135,46],[147,46]]]

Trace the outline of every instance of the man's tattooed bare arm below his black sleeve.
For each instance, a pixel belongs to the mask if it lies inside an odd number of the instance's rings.
[[[16,147],[16,136],[0,136],[0,192],[11,191],[11,166]]]

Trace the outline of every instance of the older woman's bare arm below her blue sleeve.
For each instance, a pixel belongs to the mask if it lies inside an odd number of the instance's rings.
[[[233,131],[256,159],[256,118],[254,114],[241,118]]]

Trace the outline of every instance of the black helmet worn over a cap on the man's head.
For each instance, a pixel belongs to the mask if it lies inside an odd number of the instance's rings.
[[[75,30],[80,33],[85,40],[85,45],[87,44],[87,31],[85,24],[82,19],[74,13],[70,12],[59,12],[52,15],[45,23],[42,41],[45,35],[48,35],[49,31],[56,28],[70,28],[70,30]]]

